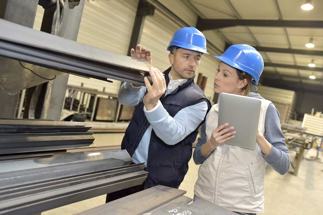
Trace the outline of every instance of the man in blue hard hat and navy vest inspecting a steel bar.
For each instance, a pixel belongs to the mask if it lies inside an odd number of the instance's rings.
[[[173,35],[167,48],[171,67],[161,73],[151,68],[152,85],[146,87],[124,83],[119,91],[123,105],[138,105],[123,137],[134,163],[145,163],[149,172],[145,188],[156,185],[178,188],[188,171],[192,143],[211,107],[203,91],[194,83],[195,72],[206,53],[206,39],[194,27],[184,27]],[[151,63],[151,52],[137,45],[131,57]],[[164,76],[165,75],[165,76]],[[137,186],[111,193],[107,201],[138,192]],[[120,195],[119,195],[120,194]]]

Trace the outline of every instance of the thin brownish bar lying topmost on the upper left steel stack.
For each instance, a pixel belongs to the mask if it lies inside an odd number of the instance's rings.
[[[64,121],[45,121],[45,120],[11,120],[1,119],[0,125],[51,125],[51,126],[86,126],[84,122],[64,122]]]

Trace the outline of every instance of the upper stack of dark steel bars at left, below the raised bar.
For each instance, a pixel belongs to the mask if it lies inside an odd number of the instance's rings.
[[[0,160],[51,156],[66,149],[94,147],[83,122],[0,119]]]

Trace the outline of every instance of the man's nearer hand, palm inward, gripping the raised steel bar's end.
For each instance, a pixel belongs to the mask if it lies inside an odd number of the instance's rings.
[[[151,77],[152,86],[149,83],[148,78],[145,77],[144,81],[148,92],[142,99],[147,111],[152,110],[158,104],[159,98],[167,90],[166,81],[161,71],[159,71],[157,68],[151,67],[149,74]]]

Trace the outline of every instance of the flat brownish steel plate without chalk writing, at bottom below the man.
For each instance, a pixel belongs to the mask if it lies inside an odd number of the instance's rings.
[[[138,193],[123,197],[101,205],[99,207],[87,210],[78,215],[99,215],[105,214],[109,211],[110,214],[143,214],[151,211],[163,204],[177,199],[184,195],[186,191],[170,188],[162,185],[157,185],[152,188],[145,189]],[[140,207],[133,207],[134,205],[140,205]]]

